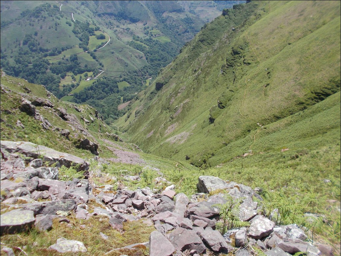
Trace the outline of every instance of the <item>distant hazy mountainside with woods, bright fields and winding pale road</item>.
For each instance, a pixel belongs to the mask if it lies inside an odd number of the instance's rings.
[[[1,1],[1,68],[92,105],[111,124],[125,113],[118,104],[146,88],[218,9],[238,2]],[[105,90],[100,78],[126,86]]]

